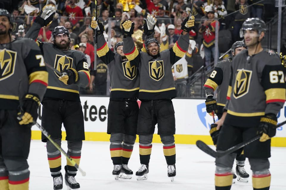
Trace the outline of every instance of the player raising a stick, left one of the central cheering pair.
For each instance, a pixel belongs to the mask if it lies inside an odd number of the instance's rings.
[[[112,175],[115,180],[118,177],[132,178],[133,171],[127,164],[136,140],[139,73],[124,55],[123,42],[116,43],[112,52],[104,39],[105,29],[100,20],[92,17],[90,26],[97,33],[97,55],[110,69],[107,134],[110,134],[110,155],[114,166]]]

